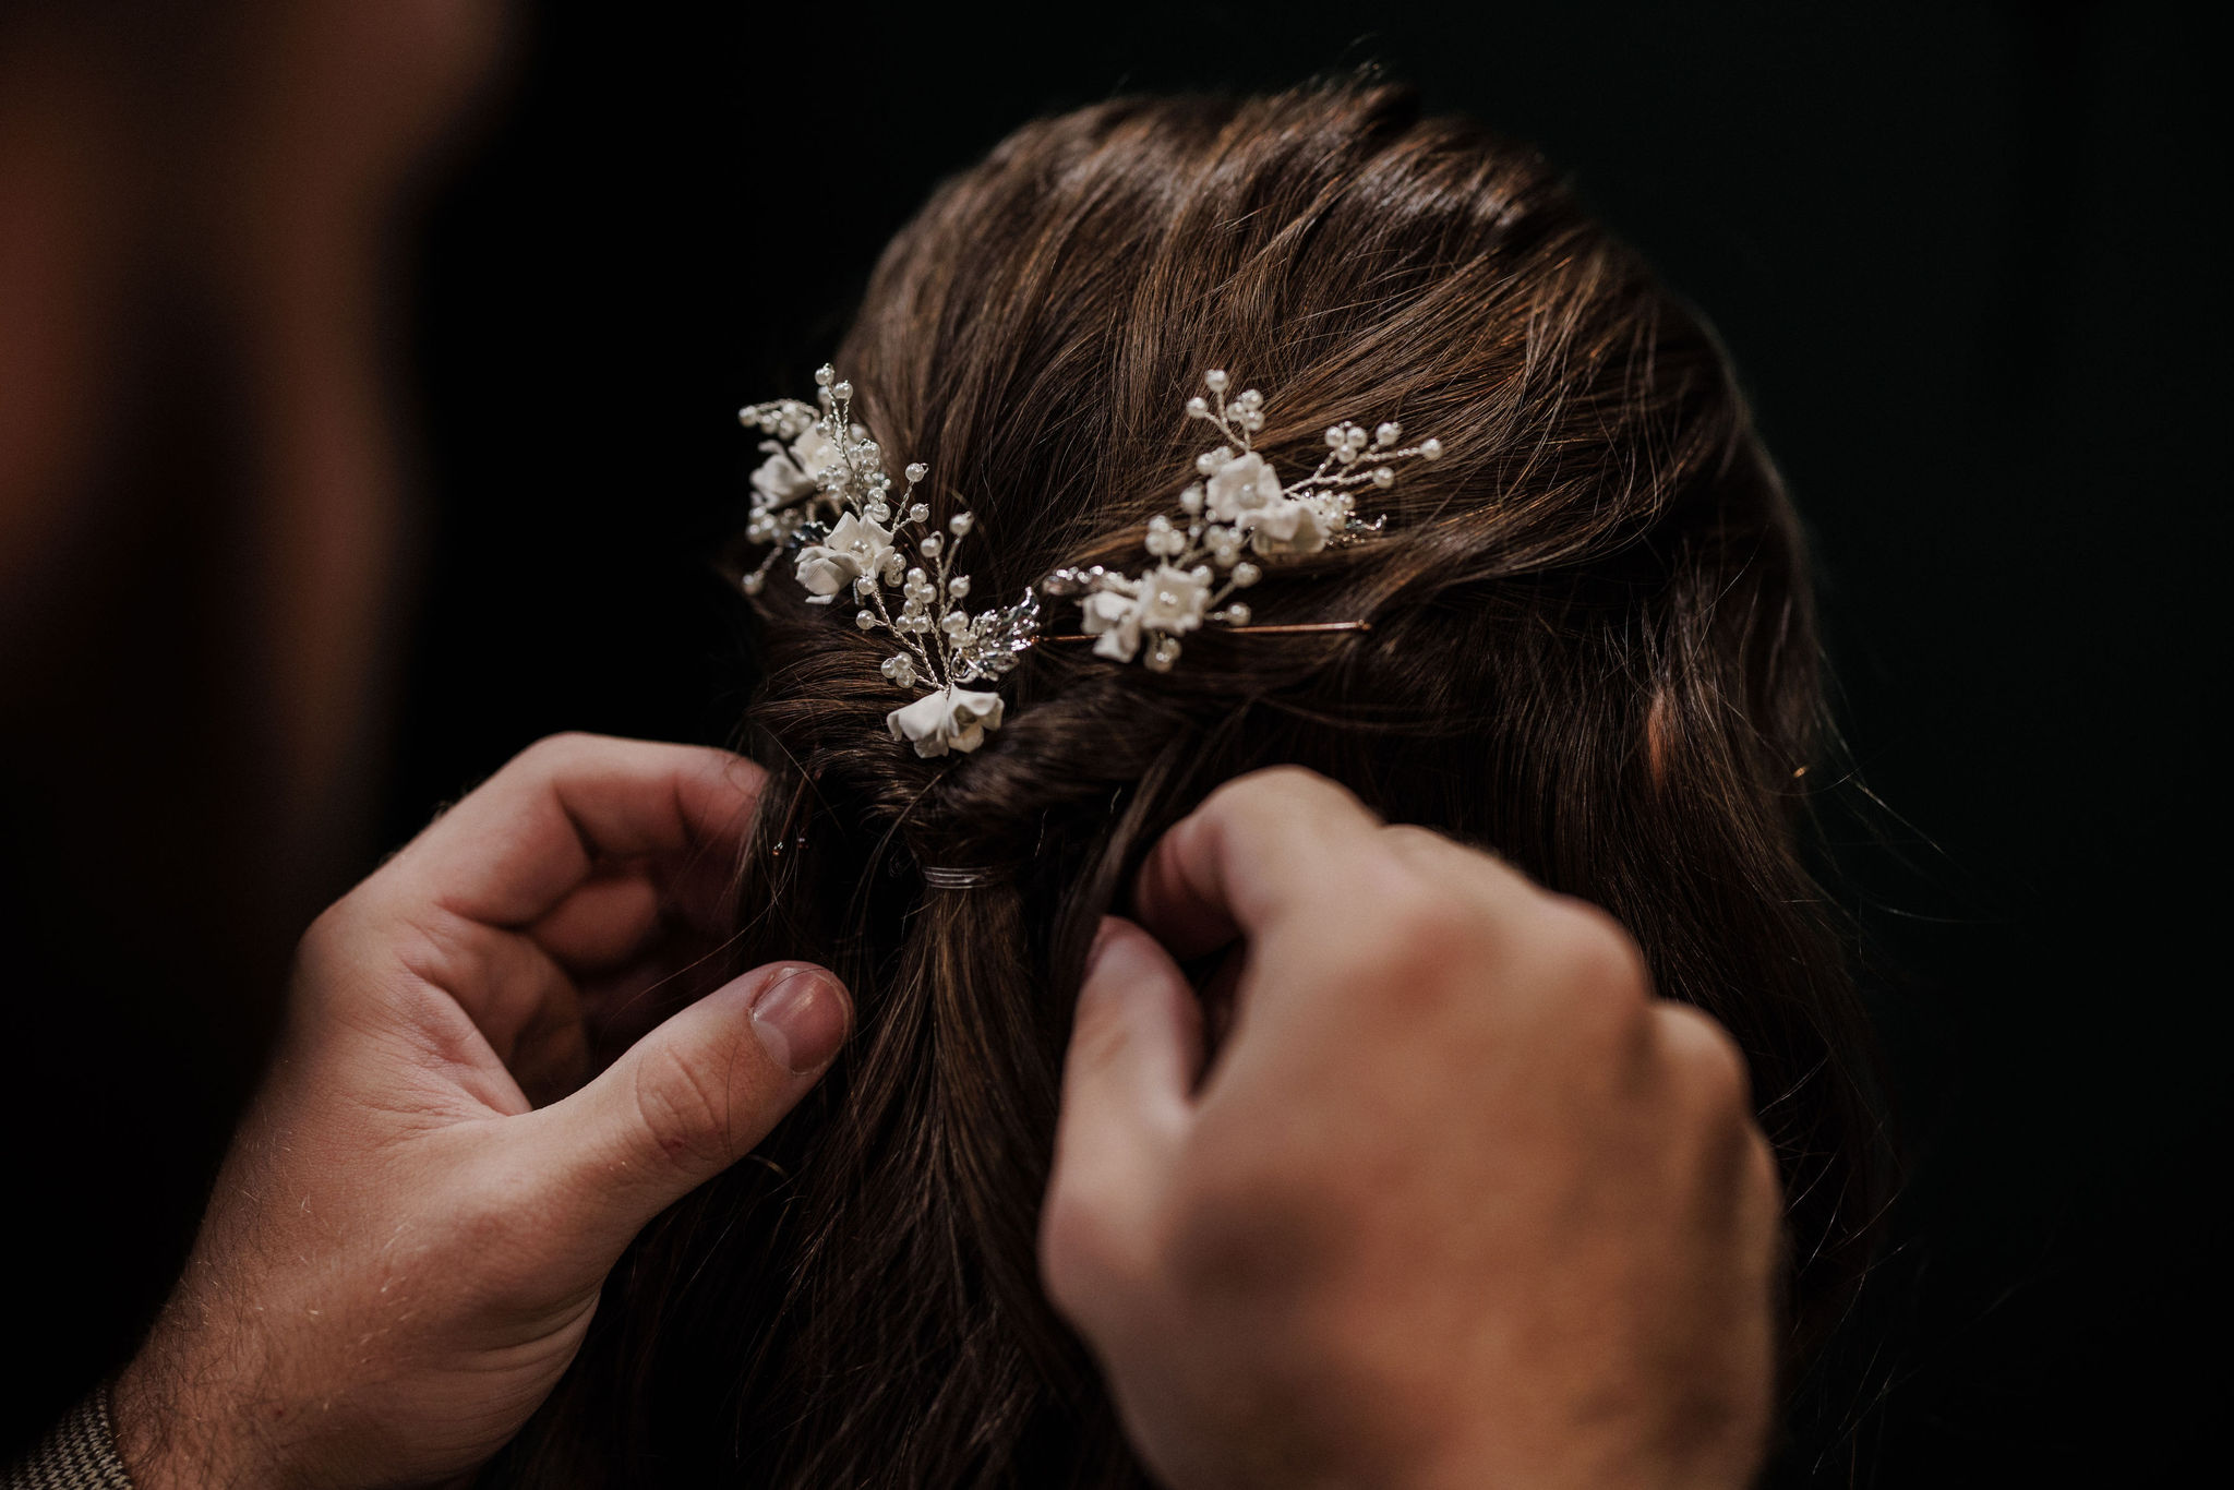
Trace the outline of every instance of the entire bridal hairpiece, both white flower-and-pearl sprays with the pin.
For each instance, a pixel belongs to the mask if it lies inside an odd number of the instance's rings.
[[[1204,373],[1202,382],[1211,398],[1186,400],[1186,413],[1213,424],[1226,442],[1195,458],[1202,480],[1180,494],[1177,518],[1148,520],[1146,550],[1157,563],[1142,574],[1101,565],[1057,570],[1014,605],[972,617],[963,605],[970,576],[954,561],[976,518],[963,509],[947,518],[945,534],[936,532],[929,505],[914,500],[929,474],[920,462],[905,469],[907,485],[894,496],[882,449],[853,422],[853,384],[822,366],[813,404],[784,398],[737,411],[746,429],[768,436],[760,442],[768,458],[753,471],[744,527],[768,554],[744,574],[744,592],[760,594],[777,561],[791,556],[809,605],[851,596],[853,625],[885,632],[900,648],[885,659],[885,677],[925,690],[885,715],[894,742],[907,739],[923,757],[967,755],[985,744],[1001,728],[1001,695],[967,684],[996,684],[1041,641],[1092,641],[1097,657],[1115,661],[1133,661],[1146,641],[1142,661],[1164,672],[1180,659],[1180,637],[1206,621],[1260,634],[1365,630],[1365,621],[1251,625],[1249,605],[1231,599],[1262,579],[1244,550],[1316,554],[1378,534],[1381,518],[1356,514],[1356,491],[1392,487],[1396,462],[1434,460],[1441,440],[1398,449],[1396,422],[1367,433],[1345,420],[1327,429],[1318,469],[1280,485],[1271,462],[1251,449],[1251,436],[1264,429],[1264,395],[1244,389],[1229,400],[1231,380],[1222,371]],[[909,563],[907,547],[923,563]],[[1041,637],[1039,594],[1077,596],[1081,632]]]

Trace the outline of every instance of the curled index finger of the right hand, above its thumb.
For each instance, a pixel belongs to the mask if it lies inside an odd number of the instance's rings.
[[[1300,766],[1235,777],[1180,820],[1133,887],[1135,918],[1180,961],[1256,936],[1282,916],[1338,918],[1345,873],[1383,853],[1381,820]]]

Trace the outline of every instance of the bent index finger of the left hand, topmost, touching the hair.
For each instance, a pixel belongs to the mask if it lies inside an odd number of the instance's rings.
[[[496,927],[536,920],[599,860],[733,858],[766,773],[704,746],[552,735],[521,751],[380,873]]]

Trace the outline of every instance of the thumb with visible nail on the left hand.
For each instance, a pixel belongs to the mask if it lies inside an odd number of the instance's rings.
[[[853,1023],[822,967],[755,967],[639,1039],[594,1081],[532,1115],[538,1168],[588,1213],[608,1262],[670,1204],[742,1159],[822,1079]]]

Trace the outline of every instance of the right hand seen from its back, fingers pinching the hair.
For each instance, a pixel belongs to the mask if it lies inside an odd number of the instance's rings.
[[[1774,1164],[1729,1037],[1613,920],[1293,768],[1220,789],[1135,900],[1041,1264],[1173,1490],[1747,1483]],[[1235,938],[1204,1074],[1173,956]]]

